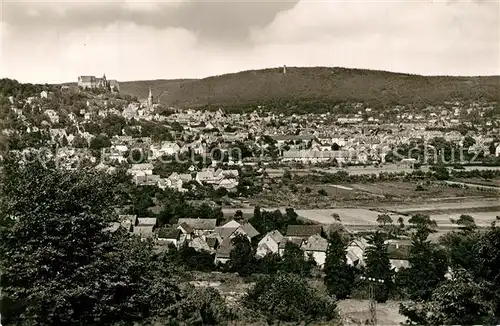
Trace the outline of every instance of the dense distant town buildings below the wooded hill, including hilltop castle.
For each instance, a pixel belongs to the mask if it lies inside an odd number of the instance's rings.
[[[99,88],[112,84],[111,81],[93,76],[80,76],[79,85],[84,88]],[[14,101],[9,98],[11,107],[20,117],[26,105],[43,107],[44,100],[50,97],[47,91],[40,93],[38,102],[34,98]],[[41,106],[40,106],[41,105]],[[154,103],[150,94],[143,102],[127,102],[123,99],[100,98],[98,95],[87,100],[85,108],[80,109],[77,116],[74,112],[68,113],[65,123],[70,123],[77,131],[69,132],[70,126],[60,127],[64,137],[69,141],[76,136],[84,138],[88,143],[97,136],[85,131],[87,122],[97,123],[99,119],[109,116],[121,116],[132,126],[141,120],[156,121],[165,126],[173,138],[172,141],[152,141],[150,137],[133,137],[122,130],[121,135],[111,139],[112,145],[106,148],[105,159],[110,162],[124,163],[127,154],[133,148],[140,147],[147,151],[148,160],[153,161],[165,156],[174,156],[183,153],[207,154],[207,147],[216,144],[217,148],[231,148],[235,142],[243,142],[255,152],[265,153],[270,144],[263,144],[262,139],[269,136],[279,148],[277,160],[283,164],[290,162],[321,163],[335,159],[339,164],[369,164],[384,163],[385,156],[395,147],[409,144],[413,140],[429,140],[442,137],[449,142],[463,143],[464,136],[458,131],[439,130],[446,127],[451,120],[458,119],[464,125],[470,125],[466,119],[469,116],[487,117],[488,112],[494,110],[496,103],[459,103],[445,102],[442,106],[428,106],[415,114],[411,108],[396,105],[384,112],[367,107],[363,103],[352,104],[354,113],[333,114],[274,114],[271,112],[258,112],[243,114],[228,114],[223,110],[176,110],[171,108],[173,114],[160,115],[157,112],[159,104]],[[22,107],[21,107],[22,106]],[[351,110],[351,111],[352,111]],[[59,112],[54,109],[43,111],[46,120],[43,122],[53,127],[61,122]],[[83,117],[83,118],[82,118]],[[371,119],[371,120],[370,120]],[[23,119],[22,119],[23,120]],[[485,120],[487,125],[488,119]],[[491,120],[491,119],[490,119]],[[28,132],[37,131],[40,126],[29,125],[27,119],[23,120]],[[445,121],[448,124],[436,122]],[[176,131],[172,125],[177,125]],[[490,144],[495,141],[495,132],[498,129],[485,128],[475,124],[477,132],[470,132],[475,144],[470,150],[482,151],[485,155],[500,155],[500,143],[496,144],[493,152]],[[140,128],[140,126],[137,126]],[[56,129],[53,127],[53,129]],[[75,128],[71,128],[75,129]],[[52,130],[52,129],[51,129]],[[5,131],[4,132],[9,132]],[[51,133],[54,141],[59,141],[63,133]],[[267,155],[267,154],[266,154]],[[260,155],[246,160],[262,160]],[[241,165],[243,162],[229,162],[229,165]],[[184,171],[189,173],[190,171]],[[153,177],[154,178],[154,177]],[[207,175],[208,179],[211,176]],[[147,181],[153,183],[154,181]]]

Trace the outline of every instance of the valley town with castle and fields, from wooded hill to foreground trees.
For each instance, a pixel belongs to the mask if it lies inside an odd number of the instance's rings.
[[[420,300],[459,271],[440,260],[442,248],[455,250],[447,236],[498,232],[497,102],[384,110],[346,102],[327,113],[288,114],[173,107],[151,88],[145,99],[123,94],[105,75],[27,89],[0,97],[2,161],[42,167],[36,173],[56,173],[54,182],[91,175],[81,187],[97,193],[120,189],[113,196],[123,199],[102,207],[116,217],[106,220],[106,234],[137,239],[151,255],[197,273],[190,281],[197,288],[215,277],[244,288],[242,278],[285,273],[321,280],[336,300]],[[437,279],[413,296],[421,285],[406,273],[419,273],[417,245],[439,271],[429,271]],[[367,296],[361,280],[380,252],[384,269],[373,275],[391,287]],[[252,293],[217,291],[229,307]]]

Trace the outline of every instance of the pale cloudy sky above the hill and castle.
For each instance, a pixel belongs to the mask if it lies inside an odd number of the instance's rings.
[[[499,0],[0,1],[0,77],[23,82],[283,64],[500,74]]]

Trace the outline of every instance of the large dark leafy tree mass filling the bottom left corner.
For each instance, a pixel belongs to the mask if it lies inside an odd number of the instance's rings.
[[[2,323],[177,318],[181,293],[150,244],[119,228],[117,176],[9,160],[0,184]]]

